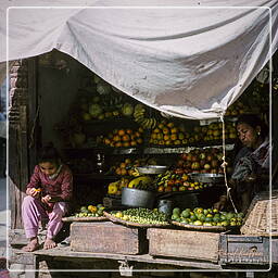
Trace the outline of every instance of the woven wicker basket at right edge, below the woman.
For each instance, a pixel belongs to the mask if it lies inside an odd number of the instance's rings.
[[[240,229],[241,233],[264,237],[271,233],[273,237],[278,237],[278,190],[271,193],[271,199],[269,192],[254,197]]]

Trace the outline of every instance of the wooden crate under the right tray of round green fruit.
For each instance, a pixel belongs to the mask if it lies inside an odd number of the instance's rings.
[[[217,232],[150,228],[147,238],[152,256],[218,261],[220,236]]]

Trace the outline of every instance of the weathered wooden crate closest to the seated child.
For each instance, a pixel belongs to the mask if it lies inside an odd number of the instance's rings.
[[[111,222],[80,222],[71,225],[71,249],[79,252],[132,255],[148,252],[148,241],[144,229]]]

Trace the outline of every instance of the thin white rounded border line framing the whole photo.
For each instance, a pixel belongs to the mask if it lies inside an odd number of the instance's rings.
[[[9,104],[10,104],[10,91],[9,91],[9,84],[10,84],[10,78],[9,78],[9,12],[12,9],[264,9],[264,10],[268,10],[269,11],[269,54],[270,54],[270,60],[268,61],[268,63],[270,63],[269,66],[269,139],[271,142],[273,139],[273,134],[271,134],[271,68],[273,68],[273,63],[271,61],[271,56],[273,56],[273,48],[271,48],[271,9],[269,7],[168,7],[168,5],[164,5],[164,7],[140,7],[140,5],[136,5],[136,7],[115,7],[115,5],[111,5],[111,7],[9,7],[7,9],[7,208],[9,210]],[[41,53],[42,54],[42,53]],[[23,58],[25,59],[25,58]],[[28,59],[28,58],[26,58]],[[269,160],[270,160],[270,168],[269,168],[269,203],[270,203],[270,207],[271,207],[271,147],[270,147],[270,155],[269,155]],[[269,214],[269,220],[271,219],[271,210],[270,210],[270,214]],[[271,222],[270,223],[270,230],[271,230]],[[10,227],[10,217],[7,214],[7,268],[9,271],[21,271],[21,269],[9,269],[9,257],[10,257],[10,248],[9,248],[9,227]],[[200,271],[200,273],[204,273],[204,271],[213,271],[213,273],[222,273],[222,271],[269,271],[271,269],[271,233],[269,233],[269,268],[268,269],[176,269],[175,271]],[[140,262],[139,262],[140,263]],[[146,263],[148,264],[148,263]],[[75,271],[75,273],[83,273],[83,271],[90,271],[90,273],[94,273],[94,271],[119,271],[118,269],[48,269],[49,271],[54,271],[54,273],[67,273],[68,270],[71,271]],[[25,271],[39,271],[39,269],[25,269]],[[170,271],[173,273],[173,269],[132,269],[134,273],[152,273],[152,271],[161,271],[161,273],[167,273]]]

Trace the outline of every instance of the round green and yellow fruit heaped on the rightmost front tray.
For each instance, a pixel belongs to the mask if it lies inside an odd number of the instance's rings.
[[[214,208],[195,207],[181,211],[175,207],[172,213],[172,220],[195,226],[241,226],[242,213],[218,212]]]

